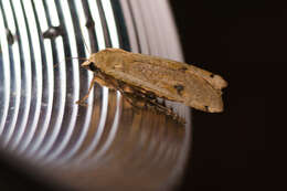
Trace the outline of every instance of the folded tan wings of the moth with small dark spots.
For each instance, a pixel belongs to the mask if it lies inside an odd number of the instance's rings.
[[[118,81],[204,112],[223,110],[221,88],[226,82],[219,75],[181,62],[116,49],[100,57],[100,68]]]

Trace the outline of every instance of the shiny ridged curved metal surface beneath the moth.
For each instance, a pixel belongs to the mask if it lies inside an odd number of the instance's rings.
[[[183,127],[99,85],[79,106],[93,73],[67,59],[121,47],[182,61],[168,1],[2,0],[0,31],[1,150],[78,190],[174,188],[191,145],[189,108],[167,102]]]

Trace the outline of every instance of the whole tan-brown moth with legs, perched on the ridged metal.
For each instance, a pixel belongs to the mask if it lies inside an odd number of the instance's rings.
[[[89,91],[97,82],[120,91],[135,107],[155,107],[176,117],[170,108],[157,102],[157,97],[162,97],[209,113],[223,110],[221,89],[227,83],[219,75],[185,63],[106,49],[92,54],[82,66],[95,73]]]

